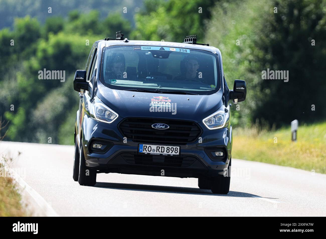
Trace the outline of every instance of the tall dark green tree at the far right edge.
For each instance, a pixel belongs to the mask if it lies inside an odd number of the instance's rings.
[[[262,80],[253,119],[289,124],[325,119],[326,1],[275,0],[256,44],[260,70],[289,71],[288,82]],[[315,105],[315,111],[312,110]]]

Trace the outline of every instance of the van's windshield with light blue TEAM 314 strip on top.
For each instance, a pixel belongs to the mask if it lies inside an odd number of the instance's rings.
[[[110,46],[101,64],[101,82],[112,89],[199,95],[220,89],[218,57],[204,50]]]

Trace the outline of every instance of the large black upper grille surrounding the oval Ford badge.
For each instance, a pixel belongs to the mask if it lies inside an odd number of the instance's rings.
[[[168,129],[154,129],[155,123],[167,124]],[[186,144],[198,139],[202,130],[198,124],[187,120],[126,118],[119,128],[122,134],[134,142]]]

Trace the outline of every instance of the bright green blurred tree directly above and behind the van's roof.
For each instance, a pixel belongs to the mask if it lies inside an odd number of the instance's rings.
[[[213,0],[147,0],[144,10],[135,15],[136,29],[132,39],[183,42],[187,35],[203,41],[204,22],[211,18]]]

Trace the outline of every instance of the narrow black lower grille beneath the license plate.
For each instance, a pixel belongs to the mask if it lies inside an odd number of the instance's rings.
[[[150,165],[150,166],[188,167],[197,160],[196,157],[187,156],[187,155],[181,155],[178,157],[178,156],[137,154],[136,152],[121,153],[121,156],[129,164]]]

